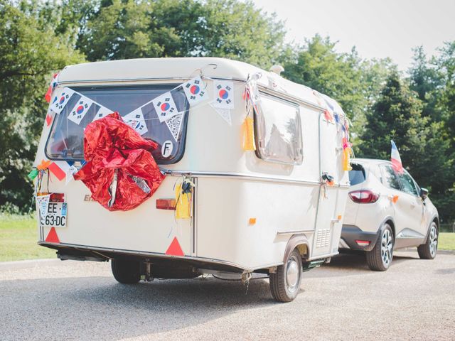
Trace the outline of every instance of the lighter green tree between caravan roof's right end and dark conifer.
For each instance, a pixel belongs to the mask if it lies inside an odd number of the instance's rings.
[[[393,67],[390,60],[361,60],[355,48],[338,53],[330,38],[316,35],[284,61],[284,77],[336,99],[353,122],[355,138]]]

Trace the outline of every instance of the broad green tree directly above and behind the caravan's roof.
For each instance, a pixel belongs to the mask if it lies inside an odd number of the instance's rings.
[[[114,0],[77,20],[76,45],[90,61],[215,56],[269,67],[284,46],[282,23],[251,1]]]

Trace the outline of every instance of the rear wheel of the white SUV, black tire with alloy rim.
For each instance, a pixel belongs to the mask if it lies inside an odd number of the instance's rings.
[[[395,238],[393,237],[392,227],[386,223],[373,250],[366,252],[368,267],[373,271],[389,269],[392,263],[394,244]]]

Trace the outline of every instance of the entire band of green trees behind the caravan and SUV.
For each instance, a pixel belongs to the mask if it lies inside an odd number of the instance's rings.
[[[0,207],[27,210],[50,76],[84,60],[214,56],[268,69],[336,99],[358,156],[390,158],[390,139],[444,220],[455,219],[455,42],[407,75],[319,35],[285,43],[276,16],[240,0],[0,0]],[[303,32],[302,35],[305,33]]]

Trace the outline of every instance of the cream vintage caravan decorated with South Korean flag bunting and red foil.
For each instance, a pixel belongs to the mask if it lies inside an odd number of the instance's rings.
[[[34,163],[38,244],[60,259],[110,260],[120,283],[269,274],[272,296],[292,301],[302,272],[338,254],[350,145],[333,99],[223,58],[73,65],[48,97]],[[118,147],[118,168],[110,151],[92,155],[112,122],[114,149],[117,128],[156,143],[139,170],[159,168],[155,183],[117,173],[131,145]],[[144,200],[128,206],[133,192]]]

